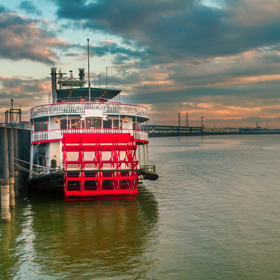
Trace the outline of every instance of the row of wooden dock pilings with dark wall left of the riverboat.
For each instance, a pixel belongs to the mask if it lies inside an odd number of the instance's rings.
[[[30,130],[14,127],[0,127],[0,196],[1,219],[10,221],[10,208],[15,207],[18,190],[25,183],[28,173],[15,163],[29,168],[28,164],[15,158],[29,161]]]

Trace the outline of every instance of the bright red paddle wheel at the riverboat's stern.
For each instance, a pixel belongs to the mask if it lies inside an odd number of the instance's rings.
[[[129,133],[64,133],[65,200],[134,198],[136,147]]]

